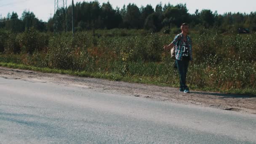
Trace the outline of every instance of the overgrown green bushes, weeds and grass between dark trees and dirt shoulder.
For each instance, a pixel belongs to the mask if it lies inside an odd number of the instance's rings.
[[[0,66],[177,87],[174,60],[163,50],[173,37],[133,29],[96,30],[94,37],[0,29]],[[191,37],[190,88],[256,94],[256,34],[200,29]]]

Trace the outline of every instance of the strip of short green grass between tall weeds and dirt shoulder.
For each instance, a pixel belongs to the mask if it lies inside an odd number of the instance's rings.
[[[122,76],[120,74],[106,73],[106,72],[85,72],[85,71],[75,72],[72,70],[40,68],[40,67],[33,67],[33,66],[24,65],[24,64],[14,64],[14,63],[5,63],[5,62],[0,62],[0,67],[8,67],[13,69],[27,69],[27,70],[33,70],[38,72],[44,72],[44,73],[67,74],[67,75],[74,75],[79,77],[103,78],[107,80],[144,83],[144,84],[152,84],[152,85],[158,85],[158,86],[178,87],[178,85],[168,85],[166,83],[163,83],[161,80],[159,80],[159,77],[148,77],[148,76],[138,76],[138,75]],[[196,88],[193,85],[190,85],[190,88],[196,91],[212,91],[212,92],[256,96],[256,90],[254,88],[221,90],[220,88],[210,88],[210,87]]]

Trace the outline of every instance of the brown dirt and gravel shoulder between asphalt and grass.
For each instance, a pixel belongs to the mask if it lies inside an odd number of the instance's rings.
[[[203,91],[192,91],[191,93],[185,94],[179,92],[177,88],[171,87],[42,73],[22,69],[9,69],[5,67],[0,67],[0,77],[28,80],[34,83],[72,85],[81,88],[91,88],[102,93],[120,93],[160,101],[170,101],[181,104],[195,104],[204,107],[213,107],[237,112],[256,113],[256,96]]]

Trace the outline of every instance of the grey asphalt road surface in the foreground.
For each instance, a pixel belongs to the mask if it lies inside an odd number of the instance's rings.
[[[0,77],[0,144],[256,144],[256,115]]]

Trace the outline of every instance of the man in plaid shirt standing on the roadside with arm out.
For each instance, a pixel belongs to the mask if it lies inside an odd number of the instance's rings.
[[[180,79],[179,91],[189,93],[189,88],[186,85],[189,61],[192,61],[192,40],[187,35],[189,33],[189,25],[186,23],[181,24],[181,31],[170,45],[164,46],[164,49],[170,51],[175,46],[175,58]]]

